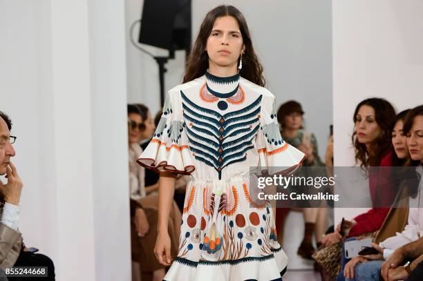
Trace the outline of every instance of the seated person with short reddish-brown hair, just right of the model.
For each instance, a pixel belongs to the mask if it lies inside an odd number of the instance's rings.
[[[279,107],[276,114],[278,122],[281,126],[281,136],[285,142],[291,144],[307,155],[303,162],[303,166],[324,166],[319,157],[317,139],[313,133],[303,130],[303,109],[297,101],[287,101]],[[301,172],[300,172],[301,173]],[[319,176],[319,175],[302,175],[301,176]],[[276,209],[276,230],[279,233],[279,240],[283,240],[283,224],[286,215],[286,208]],[[301,242],[298,254],[302,258],[312,259],[312,253],[315,249],[312,245],[312,238],[316,239],[319,246],[321,237],[326,226],[326,208],[303,208],[301,209],[304,216],[304,236]]]

